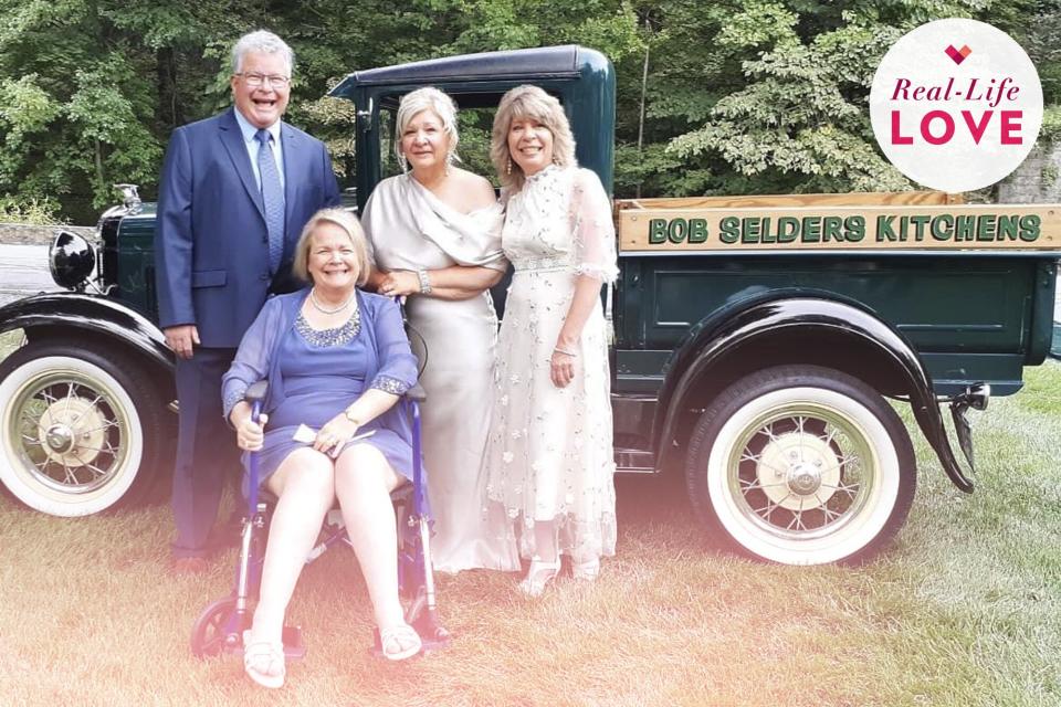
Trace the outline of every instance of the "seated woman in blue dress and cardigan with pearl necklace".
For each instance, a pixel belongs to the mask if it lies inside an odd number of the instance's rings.
[[[368,585],[384,656],[399,661],[421,647],[398,597],[390,502],[390,492],[411,475],[411,432],[395,403],[416,383],[417,360],[398,305],[357,288],[368,268],[357,219],[339,209],[317,212],[294,260],[295,274],[309,287],[265,304],[222,383],[238,444],[259,455],[261,487],[279,499],[258,608],[244,633],[246,673],[266,687],[283,684],[284,613],[336,499]],[[258,424],[243,394],[261,379],[269,380],[269,393]]]

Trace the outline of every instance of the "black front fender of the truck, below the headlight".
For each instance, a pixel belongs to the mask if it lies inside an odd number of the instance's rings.
[[[172,374],[174,354],[150,319],[105,297],[80,293],[46,293],[0,307],[0,333],[11,329],[82,329],[117,339]]]

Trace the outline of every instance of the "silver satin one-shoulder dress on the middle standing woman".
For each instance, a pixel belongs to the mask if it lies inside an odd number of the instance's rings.
[[[411,175],[384,180],[365,207],[374,264],[384,271],[438,270],[477,265],[498,271],[498,204],[461,213]],[[424,462],[437,535],[433,564],[443,572],[472,568],[518,570],[511,538],[487,534],[483,456],[492,410],[497,318],[489,292],[448,302],[413,295],[406,304],[410,324],[423,336],[428,366],[420,381]]]

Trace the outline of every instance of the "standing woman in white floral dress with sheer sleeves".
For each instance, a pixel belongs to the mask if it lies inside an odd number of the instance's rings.
[[[611,202],[575,161],[556,98],[519,86],[502,98],[491,157],[507,200],[502,247],[515,267],[501,326],[487,504],[501,504],[530,558],[521,589],[542,593],[571,559],[596,579],[614,555],[608,336],[602,284],[616,267]],[[495,514],[496,517],[496,514]]]

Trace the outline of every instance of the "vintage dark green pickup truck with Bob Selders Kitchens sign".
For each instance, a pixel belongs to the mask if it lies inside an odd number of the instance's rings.
[[[490,110],[524,83],[559,97],[579,162],[610,189],[611,63],[557,46],[347,76],[332,95],[357,108],[359,205],[387,175],[405,93],[433,85]],[[628,200],[616,215],[621,275],[603,296],[618,466],[683,474],[706,530],[756,558],[858,561],[895,535],[917,463],[889,400],[911,405],[970,492],[966,410],[1017,392],[1050,346],[1059,205],[853,193]],[[0,481],[43,513],[97,513],[167,475],[172,360],[153,238],[151,205],[130,196],[96,243],[56,235],[70,292],[0,309],[0,330],[25,335],[0,363]]]

